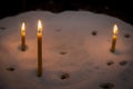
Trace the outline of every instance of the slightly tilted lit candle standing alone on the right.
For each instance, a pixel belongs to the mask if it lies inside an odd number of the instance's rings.
[[[113,27],[113,39],[112,39],[111,52],[115,51],[116,39],[117,39],[117,26],[114,24],[114,27]]]

